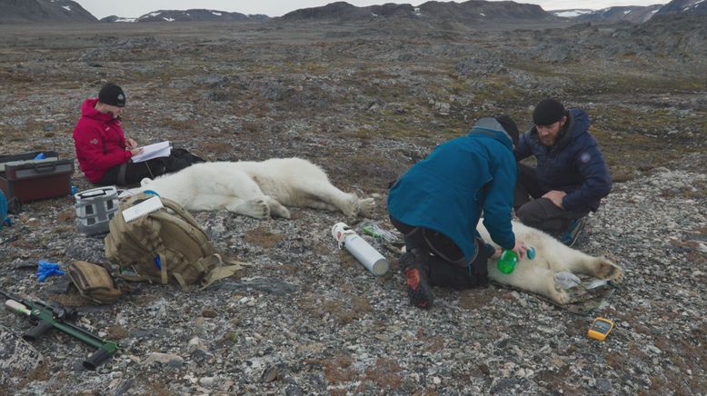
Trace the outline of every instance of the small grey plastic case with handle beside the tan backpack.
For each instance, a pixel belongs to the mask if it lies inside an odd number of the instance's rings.
[[[98,187],[74,195],[76,227],[87,235],[108,233],[108,224],[118,210],[115,186]]]

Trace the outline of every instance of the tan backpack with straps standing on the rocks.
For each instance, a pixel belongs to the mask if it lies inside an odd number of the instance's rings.
[[[179,204],[160,197],[163,208],[125,222],[124,211],[154,195],[137,193],[118,204],[105,237],[105,256],[119,265],[126,281],[176,282],[184,291],[200,283],[201,289],[233,275],[245,262],[227,261],[215,252],[194,217]]]

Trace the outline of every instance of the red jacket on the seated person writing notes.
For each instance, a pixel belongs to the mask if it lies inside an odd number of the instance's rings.
[[[125,135],[119,119],[113,114],[95,110],[98,98],[86,99],[81,105],[81,118],[74,128],[76,158],[86,179],[96,183],[108,169],[127,163],[133,155],[125,150]]]

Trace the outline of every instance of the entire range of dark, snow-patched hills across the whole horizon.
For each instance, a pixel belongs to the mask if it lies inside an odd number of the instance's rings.
[[[366,22],[384,18],[415,18],[428,22],[453,22],[463,25],[493,23],[577,22],[642,24],[653,15],[707,15],[707,0],[672,0],[667,5],[617,6],[602,10],[571,9],[546,12],[540,5],[513,1],[469,0],[462,3],[428,1],[422,5],[369,5],[358,7],[345,2],[302,8],[281,17],[244,15],[235,12],[189,9],[158,10],[136,18],[106,16],[101,22],[238,22],[282,20]],[[0,24],[97,22],[81,5],[72,0],[0,0]]]

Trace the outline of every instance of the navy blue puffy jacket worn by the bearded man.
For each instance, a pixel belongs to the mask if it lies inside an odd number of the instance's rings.
[[[515,157],[518,161],[534,155],[539,187],[546,193],[563,191],[566,211],[596,212],[602,198],[612,190],[612,178],[599,144],[589,134],[589,115],[579,109],[567,114],[567,124],[555,144],[546,146],[533,129],[521,136]]]

